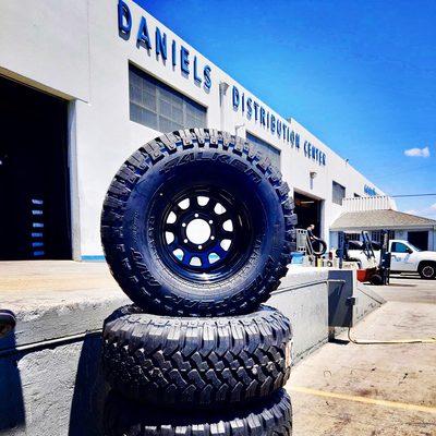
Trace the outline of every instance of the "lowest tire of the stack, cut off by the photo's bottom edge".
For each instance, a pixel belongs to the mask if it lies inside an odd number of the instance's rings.
[[[250,409],[174,412],[140,404],[112,391],[105,407],[105,436],[291,436],[292,407],[283,389]]]

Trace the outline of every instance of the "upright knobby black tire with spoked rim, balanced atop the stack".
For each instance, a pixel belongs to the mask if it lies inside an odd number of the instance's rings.
[[[109,186],[101,237],[111,272],[148,312],[249,313],[290,263],[288,193],[269,158],[240,137],[208,129],[160,136]]]

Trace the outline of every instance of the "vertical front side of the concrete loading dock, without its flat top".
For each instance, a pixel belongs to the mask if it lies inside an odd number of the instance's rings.
[[[268,302],[292,322],[294,363],[328,340],[328,280],[326,269],[293,269]],[[354,290],[359,317],[382,303],[367,289]],[[90,330],[126,298],[120,290],[93,289],[60,293],[50,304],[41,305],[37,295],[28,301],[27,310],[22,300],[8,304],[17,326],[0,339],[0,434],[101,435],[108,388],[100,372],[101,337]]]

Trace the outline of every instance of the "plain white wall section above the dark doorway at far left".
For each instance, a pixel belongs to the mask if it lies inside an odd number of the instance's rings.
[[[1,2],[1,73],[88,101],[88,48],[87,1]]]

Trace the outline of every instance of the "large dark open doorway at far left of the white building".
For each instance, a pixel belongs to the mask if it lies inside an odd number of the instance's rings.
[[[0,77],[0,259],[70,259],[68,102]]]

